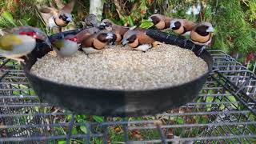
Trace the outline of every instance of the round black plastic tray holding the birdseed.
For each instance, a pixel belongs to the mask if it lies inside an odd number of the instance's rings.
[[[72,30],[64,34],[77,33],[79,30]],[[160,42],[166,42],[183,48],[192,49],[195,54],[201,46],[196,46],[185,38],[175,35],[167,35],[157,30],[148,30],[147,34]],[[51,38],[59,38],[55,34]],[[102,116],[138,116],[147,114],[158,114],[191,102],[198,95],[206,82],[209,73],[203,74],[194,81],[179,86],[171,86],[154,90],[102,90],[78,86],[68,86],[38,78],[30,73],[31,66],[42,58],[51,49],[39,43],[38,48],[28,55],[29,61],[23,68],[34,91],[42,99],[57,106],[62,106],[76,114],[94,114]],[[212,70],[213,59],[204,50],[200,55],[204,59],[209,71]]]

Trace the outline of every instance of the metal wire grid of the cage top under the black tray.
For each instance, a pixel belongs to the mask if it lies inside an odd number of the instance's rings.
[[[255,143],[256,78],[228,54],[210,53],[215,70],[193,102],[163,114],[104,122],[43,102],[20,67],[2,58],[0,143]]]

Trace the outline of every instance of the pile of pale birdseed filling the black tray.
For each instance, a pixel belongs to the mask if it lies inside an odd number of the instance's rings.
[[[148,90],[190,82],[205,74],[206,62],[192,51],[162,44],[146,53],[108,46],[102,53],[78,51],[70,58],[51,52],[31,68],[38,77],[73,86],[109,90]]]

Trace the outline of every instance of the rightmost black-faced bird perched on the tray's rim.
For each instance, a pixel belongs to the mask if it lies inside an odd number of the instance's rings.
[[[208,46],[213,38],[214,27],[210,22],[200,22],[190,32],[190,39],[194,44],[201,45],[202,50]],[[199,54],[202,53],[202,50]]]

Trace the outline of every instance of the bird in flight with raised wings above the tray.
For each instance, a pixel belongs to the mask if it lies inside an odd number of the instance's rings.
[[[71,0],[66,6],[64,6],[61,10],[56,10],[52,7],[42,7],[40,12],[51,14],[50,18],[47,22],[47,29],[50,31],[53,27],[58,27],[59,30],[62,30],[62,27],[65,27],[72,22],[71,12],[74,8],[76,0]]]

